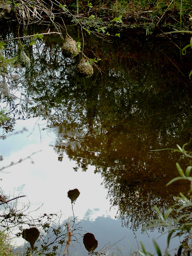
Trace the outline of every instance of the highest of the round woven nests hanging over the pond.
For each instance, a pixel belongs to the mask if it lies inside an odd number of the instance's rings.
[[[66,36],[65,42],[62,46],[62,54],[68,58],[74,58],[79,53],[77,43],[70,36]]]

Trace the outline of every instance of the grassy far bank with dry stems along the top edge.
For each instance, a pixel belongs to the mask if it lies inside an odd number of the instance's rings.
[[[104,38],[111,29],[162,36],[164,32],[190,30],[191,10],[190,0],[2,0],[0,22],[17,22],[23,28],[53,25],[60,33],[66,24],[78,25],[84,32]]]

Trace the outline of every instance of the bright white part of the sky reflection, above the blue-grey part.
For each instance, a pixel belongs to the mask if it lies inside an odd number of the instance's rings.
[[[46,213],[62,210],[68,218],[72,216],[72,209],[67,192],[78,188],[80,196],[74,205],[75,216],[82,219],[88,208],[91,210],[99,208],[93,218],[103,215],[114,218],[116,210],[109,211],[110,202],[106,200],[107,190],[101,185],[100,174],[94,174],[94,166],[90,166],[86,172],[80,169],[74,172],[75,161],[69,160],[66,155],[62,162],[58,161],[58,154],[49,146],[49,144],[54,145],[54,133],[41,131],[40,139],[38,126],[36,125],[34,129],[35,123],[36,119],[19,120],[16,130],[25,127],[28,131],[8,136],[6,140],[0,141],[0,154],[4,157],[0,166],[6,166],[11,161],[17,162],[20,158],[23,159],[42,150],[32,155],[31,159],[11,166],[0,174],[2,178],[0,186],[4,194],[10,194],[10,198],[26,195],[27,198],[20,198],[18,201],[29,200],[32,208],[44,204],[41,211]],[[32,134],[28,136],[31,132]],[[31,163],[32,161],[34,164]]]

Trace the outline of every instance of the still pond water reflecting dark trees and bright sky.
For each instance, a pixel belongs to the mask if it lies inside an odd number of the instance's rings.
[[[71,36],[81,40],[78,33]],[[12,37],[14,32],[2,33],[2,39]],[[179,155],[152,151],[190,141],[187,76],[192,67],[190,54],[181,59],[179,50],[186,42],[152,42],[130,34],[112,42],[85,36],[84,42],[86,56],[101,58],[90,78],[77,73],[80,56],[62,55],[58,36],[45,36],[35,45],[28,39],[20,42],[30,66],[10,68],[12,76],[2,82],[1,104],[11,119],[2,127],[1,138],[5,130],[9,133],[1,140],[0,155],[1,166],[23,160],[4,169],[1,189],[10,198],[26,195],[18,204],[30,202],[34,218],[61,211],[60,221],[66,222],[73,217],[67,192],[78,188],[76,223],[82,234],[95,235],[98,250],[110,242],[120,248],[117,253],[128,255],[142,240],[154,252],[158,230],[142,234],[156,218],[154,205],[164,212],[180,191],[188,190],[179,182],[165,186],[177,176]],[[17,51],[18,42],[8,41],[8,57]],[[81,236],[79,241],[81,247],[75,242],[70,247],[72,255],[87,253]],[[166,246],[164,238],[158,241]],[[16,243],[21,245],[23,238]]]

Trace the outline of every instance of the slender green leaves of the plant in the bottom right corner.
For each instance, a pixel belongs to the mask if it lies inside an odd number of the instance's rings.
[[[188,164],[191,164],[191,158],[192,158],[192,152],[187,152],[185,150],[185,147],[188,145],[188,143],[184,144],[182,148],[177,145],[178,149],[174,150],[174,152],[179,152],[182,154],[185,158],[188,158],[189,162]],[[192,169],[192,166],[189,165],[186,168],[186,171],[182,170],[180,167],[180,164],[176,163],[176,167],[178,170],[178,173],[180,176],[173,178],[166,184],[166,186],[169,186],[173,182],[176,182],[178,180],[186,180],[190,181],[190,190],[186,196],[182,192],[180,192],[180,196],[176,197],[176,202],[173,204],[170,208],[168,208],[163,215],[160,210],[158,209],[157,206],[154,206],[154,209],[156,210],[159,219],[154,219],[151,221],[152,224],[150,224],[147,228],[154,228],[157,226],[164,226],[168,228],[168,235],[167,235],[167,247],[165,249],[164,254],[165,255],[170,255],[170,252],[168,252],[170,241],[174,237],[182,237],[182,241],[178,245],[177,248],[177,255],[187,255],[189,252],[191,252],[192,248],[192,213],[191,213],[191,208],[192,208],[192,176],[190,176],[190,171]],[[172,218],[170,216],[170,213],[174,211],[175,216]],[[156,252],[158,256],[162,255],[162,252],[155,240],[153,240],[154,247],[156,249]],[[142,252],[139,251],[138,253],[140,255],[151,255],[150,253],[146,252],[143,243],[141,242],[142,246]]]

